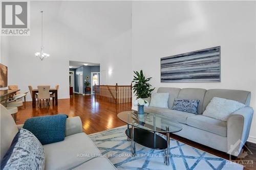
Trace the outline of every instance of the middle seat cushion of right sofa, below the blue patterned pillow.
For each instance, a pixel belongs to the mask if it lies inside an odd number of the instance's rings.
[[[193,113],[183,112],[179,110],[165,110],[160,112],[159,114],[166,116],[182,124],[186,124],[187,117],[195,115]]]

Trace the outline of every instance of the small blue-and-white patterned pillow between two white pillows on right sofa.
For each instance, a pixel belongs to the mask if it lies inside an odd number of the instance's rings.
[[[173,110],[197,114],[197,107],[200,101],[197,99],[174,99]]]

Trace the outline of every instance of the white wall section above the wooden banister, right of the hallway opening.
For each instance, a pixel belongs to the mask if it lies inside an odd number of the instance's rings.
[[[100,48],[100,70],[106,72],[106,84],[130,85],[132,81],[132,31],[127,30]],[[101,75],[102,78],[103,75]]]

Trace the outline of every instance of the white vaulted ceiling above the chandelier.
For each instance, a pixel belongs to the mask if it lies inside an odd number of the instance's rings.
[[[31,1],[33,24],[40,25],[41,10],[44,23],[62,22],[76,34],[98,44],[131,29],[129,1]]]

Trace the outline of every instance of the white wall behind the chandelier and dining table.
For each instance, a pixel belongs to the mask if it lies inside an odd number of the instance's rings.
[[[44,23],[44,47],[50,57],[41,61],[34,55],[40,51],[40,29],[32,21],[30,36],[2,37],[9,41],[8,84],[17,84],[21,91],[28,91],[28,85],[36,88],[40,84],[59,84],[59,99],[69,98],[69,60],[99,63],[98,48],[53,20]]]

